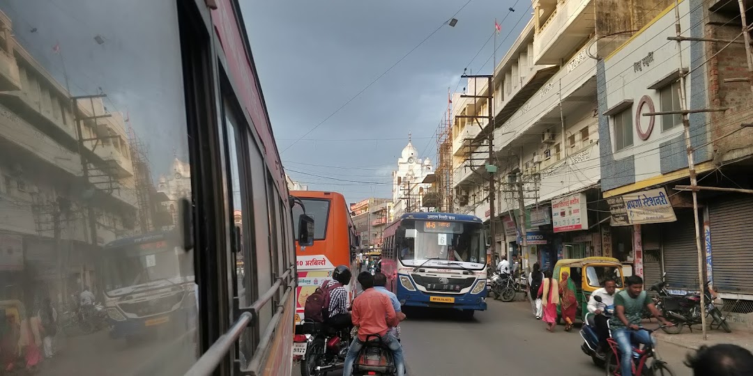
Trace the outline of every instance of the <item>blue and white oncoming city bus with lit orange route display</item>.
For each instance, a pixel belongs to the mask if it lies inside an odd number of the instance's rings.
[[[385,229],[382,271],[403,305],[486,310],[486,236],[478,217],[403,214]]]

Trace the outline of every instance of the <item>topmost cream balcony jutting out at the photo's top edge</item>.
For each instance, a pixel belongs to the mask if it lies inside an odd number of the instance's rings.
[[[596,30],[594,0],[564,0],[541,24],[533,40],[534,64],[558,64]],[[541,4],[542,7],[546,5]],[[546,11],[546,8],[544,8]]]

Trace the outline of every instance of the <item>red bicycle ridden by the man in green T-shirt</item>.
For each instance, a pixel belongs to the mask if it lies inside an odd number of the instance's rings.
[[[661,329],[663,326],[658,327],[657,329],[645,329],[644,327],[640,326],[640,329],[645,330],[648,332],[648,335],[651,336],[656,332],[657,330]],[[633,330],[633,329],[628,329]],[[608,338],[607,342],[609,344],[609,347],[611,348],[611,352],[607,353],[606,359],[605,359],[605,370],[607,376],[620,376],[620,350],[619,347],[617,347],[617,341],[614,340],[614,338]],[[651,362],[651,367],[648,366],[648,359],[654,358],[654,361]],[[669,365],[666,364],[662,359],[660,359],[659,355],[657,354],[656,349],[651,344],[645,344],[643,349],[639,349],[637,347],[633,347],[633,374],[636,376],[674,376],[674,372],[669,368]]]

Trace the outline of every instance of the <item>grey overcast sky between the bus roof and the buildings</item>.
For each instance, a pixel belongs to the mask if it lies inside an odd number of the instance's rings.
[[[494,32],[495,17],[501,23],[497,60],[501,59],[531,17],[528,0],[471,0],[455,16],[459,22],[454,28],[439,29],[337,114],[291,144],[466,2],[241,2],[288,174],[310,190],[340,192],[348,202],[357,202],[370,196],[392,197],[392,170],[408,132],[413,133],[420,157],[436,162],[434,135],[447,109],[447,88],[462,90],[465,83],[459,78],[466,66],[474,73],[491,73],[493,40],[471,59]],[[508,10],[511,7],[514,12]]]

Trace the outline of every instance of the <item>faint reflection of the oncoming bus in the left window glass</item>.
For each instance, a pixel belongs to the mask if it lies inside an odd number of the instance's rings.
[[[105,245],[105,308],[112,338],[196,325],[193,259],[178,232],[152,232]]]

